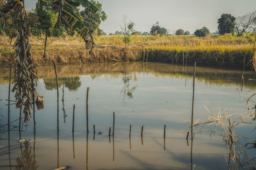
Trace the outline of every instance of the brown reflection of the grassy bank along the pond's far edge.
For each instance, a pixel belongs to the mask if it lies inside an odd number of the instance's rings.
[[[187,83],[187,79],[193,76],[193,67],[191,66],[177,66],[170,64],[161,64],[148,62],[143,69],[143,62],[121,62],[121,63],[98,63],[98,64],[86,64],[84,65],[68,65],[68,66],[56,66],[59,76],[60,85],[65,81],[68,89],[77,90],[80,87],[79,75],[90,75],[92,80],[99,78],[100,76],[111,76],[117,78],[118,76],[125,76],[125,73],[130,76],[135,71],[136,73],[151,73],[155,76],[170,76],[176,78],[184,78]],[[186,71],[184,71],[186,70]],[[241,69],[242,70],[242,69]],[[214,69],[209,67],[198,67],[196,70],[196,81],[204,81],[206,85],[237,85],[241,87],[241,70],[228,70],[228,69]],[[8,83],[8,68],[0,68],[0,84]],[[256,74],[253,71],[243,71],[243,88],[255,89]],[[56,89],[56,84],[53,82],[54,78],[53,66],[44,66],[44,69],[38,68],[38,78],[44,78],[45,87],[49,90]],[[72,80],[74,78],[74,80]],[[63,80],[61,80],[63,79]],[[67,80],[65,80],[67,79]],[[134,77],[136,79],[136,77]],[[61,82],[62,81],[62,82]],[[74,83],[71,84],[71,82]],[[80,82],[80,83],[79,83]],[[71,85],[70,85],[71,84]]]

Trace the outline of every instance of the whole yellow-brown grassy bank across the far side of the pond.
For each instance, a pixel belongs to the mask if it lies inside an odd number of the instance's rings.
[[[247,69],[252,69],[253,37],[243,36],[131,36],[130,45],[125,48],[122,36],[98,36],[95,43],[98,49],[89,53],[83,39],[77,36],[49,38],[47,57],[43,59],[44,36],[31,37],[31,53],[36,64],[77,64],[88,62],[118,62],[143,60],[185,64],[198,62],[210,66],[243,67],[244,57]],[[0,37],[0,65],[14,62],[14,50],[10,39]],[[188,57],[187,57],[188,55]]]

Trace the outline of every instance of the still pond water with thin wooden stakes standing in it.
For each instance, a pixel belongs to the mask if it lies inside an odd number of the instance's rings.
[[[36,90],[44,96],[44,106],[37,106],[35,118],[31,115],[28,123],[23,122],[22,113],[19,132],[20,110],[15,109],[15,104],[10,106],[11,124],[8,128],[9,69],[0,69],[0,169],[253,167],[250,162],[239,165],[236,160],[237,164],[228,164],[227,145],[221,133],[213,132],[215,127],[211,125],[204,127],[204,131],[202,127],[196,127],[193,141],[190,134],[186,140],[187,121],[191,120],[193,67],[122,62],[57,66],[57,73],[59,99],[54,67],[38,67]],[[196,68],[195,122],[205,122],[217,112],[227,113],[235,119],[250,115],[246,100],[255,92],[256,75],[245,72],[243,82],[242,74],[239,70]],[[13,93],[11,100],[15,101]],[[253,122],[251,119],[248,116],[249,122]],[[111,136],[108,136],[109,127]],[[246,139],[256,140],[253,138],[254,128],[254,124],[237,125],[241,146],[246,145]],[[251,159],[256,157],[254,146],[245,149]]]

